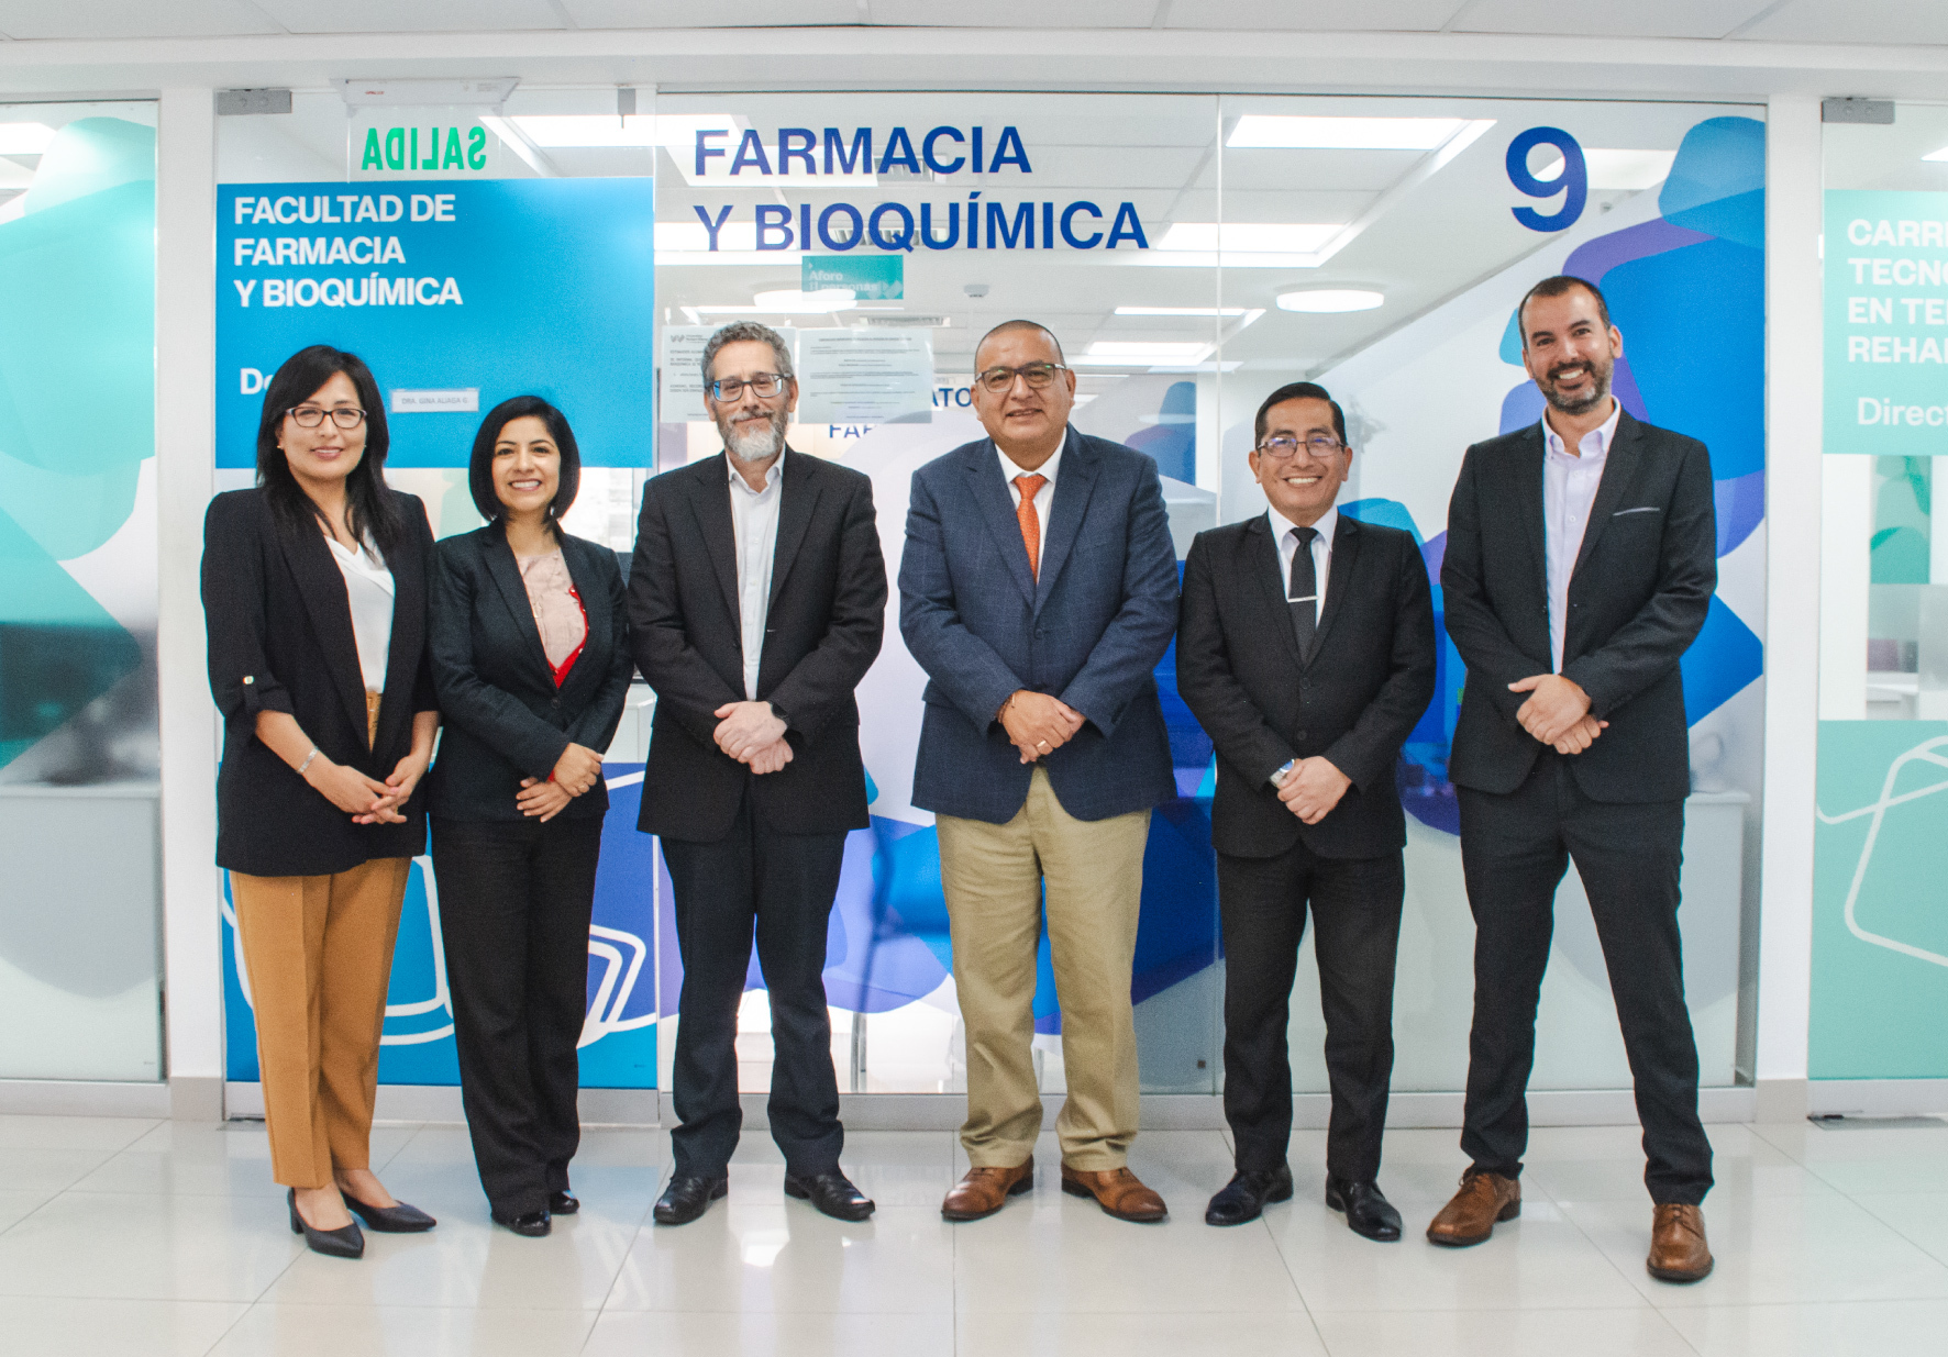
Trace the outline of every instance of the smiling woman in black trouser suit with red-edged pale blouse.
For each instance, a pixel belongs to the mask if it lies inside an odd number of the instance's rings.
[[[497,1225],[540,1236],[579,1207],[575,1047],[588,917],[633,664],[621,570],[561,530],[581,454],[547,401],[497,405],[468,483],[487,526],[432,570],[432,866],[473,1162]]]

